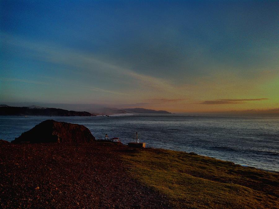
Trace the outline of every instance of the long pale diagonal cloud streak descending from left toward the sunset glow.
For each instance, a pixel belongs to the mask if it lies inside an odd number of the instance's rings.
[[[149,86],[153,89],[158,89],[166,92],[174,92],[174,90],[176,89],[175,86],[171,85],[165,79],[137,73],[131,69],[127,69],[125,67],[109,63],[108,61],[98,59],[94,54],[88,54],[69,48],[57,47],[49,43],[32,42],[24,40],[20,37],[10,36],[9,34],[2,35],[9,37],[3,39],[6,40],[4,44],[14,45],[34,52],[38,52],[35,54],[31,54],[31,56],[35,56],[37,59],[46,62],[55,64],[66,64],[68,66],[78,68],[81,74],[84,74],[84,72],[100,72],[101,69],[102,72],[106,72],[109,74],[113,72],[114,74],[118,74],[119,76],[128,76],[134,82],[145,87]]]

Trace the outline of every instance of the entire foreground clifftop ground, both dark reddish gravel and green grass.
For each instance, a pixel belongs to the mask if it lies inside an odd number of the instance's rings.
[[[279,203],[278,173],[194,153],[104,142],[1,142],[1,152],[2,207],[276,208]]]

